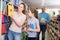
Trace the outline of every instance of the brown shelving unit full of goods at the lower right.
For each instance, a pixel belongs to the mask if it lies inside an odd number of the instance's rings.
[[[48,36],[50,40],[60,40],[60,26],[57,20],[51,20],[48,24]]]

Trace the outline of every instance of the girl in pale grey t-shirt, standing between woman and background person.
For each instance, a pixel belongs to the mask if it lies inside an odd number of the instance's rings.
[[[37,19],[36,10],[30,10],[28,13],[29,18],[27,19],[28,24],[28,40],[36,40],[37,32],[40,31],[39,20]]]

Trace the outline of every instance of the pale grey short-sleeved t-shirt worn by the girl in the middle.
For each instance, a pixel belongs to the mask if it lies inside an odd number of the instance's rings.
[[[29,18],[27,19],[27,24],[31,29],[34,30],[36,28],[36,25],[39,24],[39,20],[36,18]],[[37,32],[28,32],[28,37],[37,37]]]

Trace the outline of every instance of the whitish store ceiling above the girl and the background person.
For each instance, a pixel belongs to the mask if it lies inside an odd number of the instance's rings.
[[[30,5],[32,8],[41,8],[41,6],[60,8],[60,0],[23,0],[23,2]]]

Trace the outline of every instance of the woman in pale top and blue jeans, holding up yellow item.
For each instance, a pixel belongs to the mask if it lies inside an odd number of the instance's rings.
[[[11,16],[12,24],[8,32],[9,40],[22,40],[22,25],[26,20],[25,11],[26,6],[24,3],[21,3],[18,5],[18,12]]]

